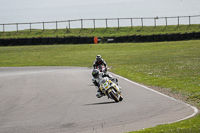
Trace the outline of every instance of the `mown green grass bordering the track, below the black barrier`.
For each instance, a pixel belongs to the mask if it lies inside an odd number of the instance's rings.
[[[200,109],[200,40],[0,47],[0,66],[91,67],[101,54],[110,71],[150,87],[179,95]],[[199,132],[200,115],[139,132]]]

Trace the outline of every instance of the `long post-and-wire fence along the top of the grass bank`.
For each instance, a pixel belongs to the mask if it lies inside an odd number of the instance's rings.
[[[109,28],[159,25],[191,25],[199,24],[200,15],[174,16],[174,17],[144,17],[144,18],[103,18],[103,19],[77,19],[65,21],[6,23],[0,24],[0,32],[33,29],[71,29],[71,28]]]

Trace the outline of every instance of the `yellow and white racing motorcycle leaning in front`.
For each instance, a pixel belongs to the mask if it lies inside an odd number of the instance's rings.
[[[100,90],[102,93],[108,96],[108,99],[111,98],[115,102],[120,102],[123,100],[119,86],[111,81],[108,77],[104,77],[100,80]]]

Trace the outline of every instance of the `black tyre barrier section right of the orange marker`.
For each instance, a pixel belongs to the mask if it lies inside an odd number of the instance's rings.
[[[160,35],[134,35],[107,37],[104,42],[107,43],[123,43],[123,42],[159,42],[159,41],[180,41],[200,39],[200,32],[193,33],[176,33],[176,34],[160,34]]]

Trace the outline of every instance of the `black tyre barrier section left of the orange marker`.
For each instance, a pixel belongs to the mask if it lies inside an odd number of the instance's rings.
[[[0,39],[0,46],[51,45],[51,44],[91,44],[94,37],[48,37]]]

